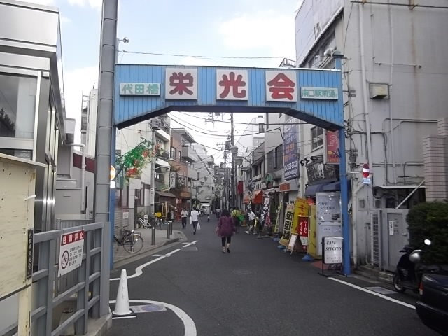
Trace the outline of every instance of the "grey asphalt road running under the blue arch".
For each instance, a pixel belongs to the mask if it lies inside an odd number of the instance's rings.
[[[231,253],[223,254],[221,239],[214,234],[216,219],[203,220],[201,225],[197,235],[190,226],[185,230],[188,243],[195,244],[172,244],[125,267],[130,276],[139,265],[172,253],[145,267],[141,276],[127,284],[131,301],[175,307],[115,319],[109,336],[437,335],[421,323],[414,309],[327,279],[299,255],[280,251],[272,239],[240,231],[232,238]],[[179,223],[176,226],[182,230]],[[111,273],[111,277],[119,276],[120,269]],[[384,286],[356,278],[337,279],[362,288]],[[117,290],[118,281],[112,281],[111,299]],[[386,297],[410,304],[416,300],[398,293]],[[131,303],[135,304],[147,303]],[[160,306],[148,307],[157,310]]]

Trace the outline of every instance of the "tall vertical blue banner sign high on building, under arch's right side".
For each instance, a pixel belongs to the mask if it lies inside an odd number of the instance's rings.
[[[286,125],[283,125],[283,171],[285,180],[298,177],[298,148],[297,148],[297,119],[290,118]]]

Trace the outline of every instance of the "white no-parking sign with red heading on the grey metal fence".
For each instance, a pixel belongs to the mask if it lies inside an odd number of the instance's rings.
[[[83,261],[84,235],[83,230],[62,235],[57,276],[70,273],[73,269],[80,267]]]

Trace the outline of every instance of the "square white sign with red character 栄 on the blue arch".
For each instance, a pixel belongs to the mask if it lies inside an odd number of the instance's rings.
[[[165,99],[197,99],[197,69],[167,68],[165,72]]]

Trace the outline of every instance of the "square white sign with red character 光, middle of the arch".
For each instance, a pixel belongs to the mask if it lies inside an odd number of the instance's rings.
[[[247,70],[216,69],[217,100],[248,100]]]

